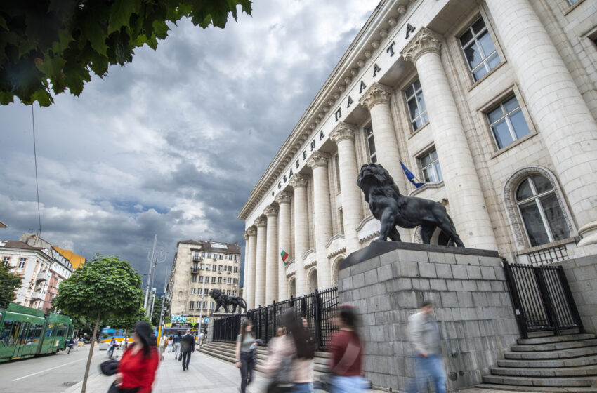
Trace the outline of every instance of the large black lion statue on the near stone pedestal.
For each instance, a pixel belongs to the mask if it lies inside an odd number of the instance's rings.
[[[446,208],[429,199],[403,196],[394,179],[379,164],[361,166],[357,186],[365,194],[365,201],[376,219],[381,221],[379,238],[374,241],[386,241],[388,237],[400,241],[396,225],[403,228],[421,227],[421,240],[429,244],[436,227],[450,237],[448,244],[464,247],[456,233],[454,222]]]

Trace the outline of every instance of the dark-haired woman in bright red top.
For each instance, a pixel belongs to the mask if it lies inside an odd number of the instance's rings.
[[[133,342],[118,364],[115,385],[118,392],[150,393],[159,364],[159,355],[152,345],[151,326],[147,321],[135,324]]]

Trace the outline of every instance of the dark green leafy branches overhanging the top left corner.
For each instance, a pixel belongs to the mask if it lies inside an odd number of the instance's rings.
[[[66,88],[79,96],[92,74],[124,66],[133,51],[168,35],[188,17],[204,29],[251,15],[250,0],[38,0],[0,5],[0,104],[18,97],[51,105]]]

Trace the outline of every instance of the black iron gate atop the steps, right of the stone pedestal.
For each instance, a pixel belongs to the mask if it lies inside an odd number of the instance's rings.
[[[504,270],[523,338],[536,331],[584,331],[563,267],[510,265],[504,260]]]

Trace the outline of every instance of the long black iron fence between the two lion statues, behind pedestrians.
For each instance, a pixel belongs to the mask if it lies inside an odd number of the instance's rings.
[[[287,309],[294,309],[297,317],[306,317],[309,321],[309,330],[318,350],[327,348],[329,333],[334,331],[330,318],[338,305],[336,288],[324,291],[315,290],[314,293],[291,297],[283,302],[273,302],[271,305],[250,309],[247,318],[253,322],[253,331],[256,338],[267,344],[275,335],[277,326],[280,326],[280,317]],[[214,341],[235,342],[240,331],[240,314],[223,317],[214,321]]]

